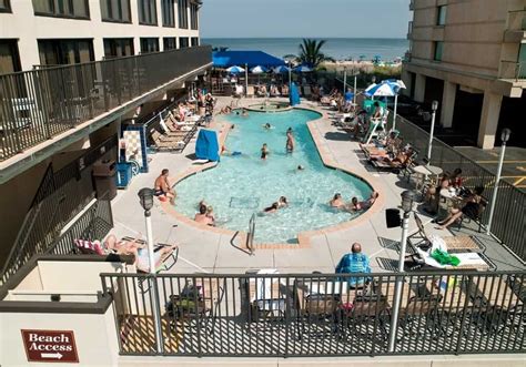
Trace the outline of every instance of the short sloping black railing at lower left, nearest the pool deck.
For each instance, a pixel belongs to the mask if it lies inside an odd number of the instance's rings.
[[[68,255],[77,251],[74,241],[100,241],[113,228],[111,202],[98,200],[89,210],[51,244],[45,251],[50,255]]]

